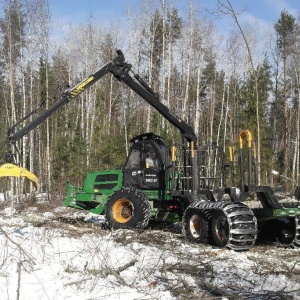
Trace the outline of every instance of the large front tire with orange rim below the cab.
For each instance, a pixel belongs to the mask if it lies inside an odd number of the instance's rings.
[[[124,200],[124,201],[123,201]],[[114,214],[115,206],[118,201],[130,203],[131,216],[128,221],[120,222]],[[116,191],[108,199],[105,206],[106,222],[109,228],[122,229],[122,228],[145,228],[150,219],[151,207],[150,203],[145,196],[133,187],[123,187],[121,190]]]

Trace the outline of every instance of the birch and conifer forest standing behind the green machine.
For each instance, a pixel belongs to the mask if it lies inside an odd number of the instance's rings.
[[[258,183],[299,184],[300,16],[283,10],[274,30],[262,36],[259,27],[241,25],[243,11],[229,0],[215,2],[211,14],[235,24],[227,35],[201,13],[199,1],[179,10],[176,1],[142,0],[123,16],[125,25],[94,22],[90,12],[85,22],[61,28],[58,38],[47,0],[2,1],[1,157],[9,128],[41,103],[37,113],[50,107],[67,85],[122,49],[134,72],[194,128],[200,149],[237,149],[239,132],[248,129]],[[43,191],[63,196],[68,180],[82,186],[87,172],[122,166],[130,138],[144,132],[167,143],[179,137],[149,104],[107,75],[20,139],[16,156]],[[1,191],[8,184],[1,180]]]

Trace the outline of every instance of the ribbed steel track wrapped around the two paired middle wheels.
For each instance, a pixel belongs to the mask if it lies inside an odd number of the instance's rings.
[[[198,210],[199,215],[206,218],[208,222],[215,211],[222,211],[229,225],[229,238],[225,245],[226,248],[236,251],[249,250],[255,244],[257,220],[252,210],[245,204],[199,201],[191,204],[187,209]]]

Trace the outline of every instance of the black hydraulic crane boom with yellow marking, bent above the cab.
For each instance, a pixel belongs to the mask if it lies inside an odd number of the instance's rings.
[[[131,65],[125,61],[125,57],[121,50],[117,50],[117,56],[103,67],[101,67],[94,74],[91,74],[88,78],[84,79],[78,83],[73,88],[70,88],[62,93],[60,99],[55,102],[51,107],[42,112],[39,116],[33,119],[24,127],[15,130],[17,125],[22,123],[25,119],[31,116],[34,112],[29,113],[27,116],[22,118],[16,125],[11,127],[8,131],[8,145],[9,149],[6,154],[6,162],[13,161],[13,154],[11,151],[11,146],[14,145],[18,140],[20,140],[28,132],[36,128],[39,124],[49,118],[54,112],[62,108],[67,103],[71,102],[79,94],[84,92],[88,87],[96,83],[100,78],[105,76],[107,73],[111,73],[119,81],[124,82],[133,91],[135,91],[139,96],[146,100],[153,108],[155,108],[165,119],[167,119],[172,125],[174,125],[180,132],[182,136],[182,145],[184,148],[184,164],[191,166],[191,171],[186,174],[193,178],[193,187],[197,189],[198,187],[198,169],[196,156],[194,155],[195,144],[197,141],[196,135],[190,125],[184,122],[176,114],[171,112],[163,103],[159,101],[158,95],[147,85],[142,78],[133,74],[133,77],[129,74],[131,71]],[[133,72],[132,72],[133,73]]]

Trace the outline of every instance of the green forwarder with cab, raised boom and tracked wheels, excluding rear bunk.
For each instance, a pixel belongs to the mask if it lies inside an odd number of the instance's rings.
[[[211,241],[233,250],[249,249],[257,238],[253,211],[233,197],[231,189],[223,190],[229,193],[230,201],[216,201],[210,189],[200,184],[205,178],[200,178],[193,129],[170,112],[139,75],[130,75],[131,65],[120,50],[112,61],[65,91],[28,125],[10,131],[9,143],[14,144],[107,73],[128,85],[180,131],[182,151],[174,145],[167,147],[163,138],[153,133],[141,134],[131,140],[122,169],[89,173],[83,188],[68,183],[64,206],[105,214],[108,225],[115,229],[145,228],[150,218],[182,219],[183,232],[190,240]],[[150,156],[156,156],[155,164],[150,163]]]

